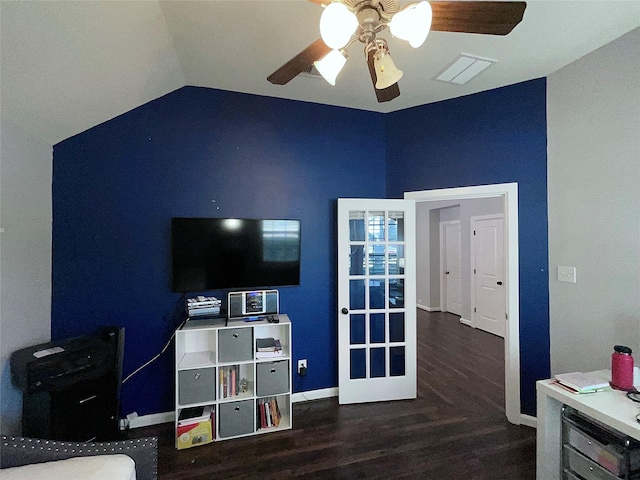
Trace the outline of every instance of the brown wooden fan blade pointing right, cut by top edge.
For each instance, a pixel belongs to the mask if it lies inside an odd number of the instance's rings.
[[[430,2],[431,30],[507,35],[522,21],[526,2]]]

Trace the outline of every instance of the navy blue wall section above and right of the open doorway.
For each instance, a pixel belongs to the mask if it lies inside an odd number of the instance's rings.
[[[387,196],[518,183],[521,410],[550,375],[546,80],[385,115]],[[464,355],[464,352],[462,352]]]

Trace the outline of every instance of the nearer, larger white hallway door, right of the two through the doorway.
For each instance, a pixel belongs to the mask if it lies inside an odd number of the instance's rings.
[[[471,217],[472,325],[502,338],[506,331],[504,218]]]

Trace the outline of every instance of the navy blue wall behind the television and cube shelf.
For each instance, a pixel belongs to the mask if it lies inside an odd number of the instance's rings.
[[[52,338],[125,327],[124,374],[175,328],[173,216],[301,220],[301,285],[280,288],[294,391],[337,385],[338,197],[385,196],[381,114],[184,87],[54,147]],[[208,292],[226,300],[226,292]],[[127,382],[122,414],[174,407],[173,346]]]

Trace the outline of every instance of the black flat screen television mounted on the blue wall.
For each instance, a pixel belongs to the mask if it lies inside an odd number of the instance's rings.
[[[300,220],[171,219],[171,290],[300,284]]]

